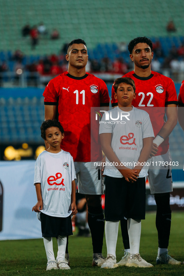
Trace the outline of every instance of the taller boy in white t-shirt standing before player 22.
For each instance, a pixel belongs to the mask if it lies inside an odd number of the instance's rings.
[[[142,169],[153,144],[153,128],[147,112],[134,108],[134,80],[114,82],[118,107],[105,112],[100,121],[100,140],[106,155],[105,233],[107,258],[101,268],[115,268],[119,221],[128,219],[130,252],[127,266],[152,267],[139,254],[141,219],[145,219],[145,176]],[[139,162],[139,163],[138,163]]]

